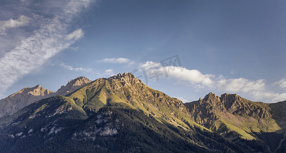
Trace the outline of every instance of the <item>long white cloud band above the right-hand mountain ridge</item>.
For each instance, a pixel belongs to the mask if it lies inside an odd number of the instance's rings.
[[[144,66],[151,68],[151,70],[157,69],[162,73],[164,70],[167,70],[167,77],[175,79],[179,83],[193,85],[195,88],[207,88],[209,90],[219,90],[231,93],[244,93],[250,95],[254,100],[263,99],[266,100],[265,102],[267,103],[286,100],[286,93],[274,93],[267,91],[265,84],[266,81],[264,79],[227,79],[223,77],[223,75],[216,77],[214,74],[203,74],[195,69],[190,70],[183,67],[174,66],[162,67],[160,63],[152,61],[141,64],[141,67]],[[286,79],[283,78],[275,84],[278,84],[281,88],[286,88]]]

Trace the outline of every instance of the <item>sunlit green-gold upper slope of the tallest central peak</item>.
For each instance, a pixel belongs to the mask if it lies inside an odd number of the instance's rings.
[[[197,126],[208,130],[190,119],[181,100],[148,87],[131,73],[98,79],[67,96],[88,113],[96,112],[111,102],[124,103],[184,129]]]

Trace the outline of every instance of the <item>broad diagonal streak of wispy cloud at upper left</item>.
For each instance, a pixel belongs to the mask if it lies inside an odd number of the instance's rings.
[[[5,91],[19,78],[41,67],[50,57],[80,39],[81,30],[68,34],[68,29],[73,17],[89,3],[89,0],[70,1],[60,13],[51,19],[45,19],[30,37],[4,54],[0,58],[0,89]],[[66,37],[71,39],[65,39]]]

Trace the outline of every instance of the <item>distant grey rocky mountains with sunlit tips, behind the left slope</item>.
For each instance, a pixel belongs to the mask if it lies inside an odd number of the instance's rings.
[[[18,110],[43,98],[69,94],[90,82],[91,81],[88,78],[78,77],[69,81],[66,86],[62,86],[56,92],[49,91],[40,85],[32,88],[23,88],[20,91],[0,100],[0,117],[12,115]]]

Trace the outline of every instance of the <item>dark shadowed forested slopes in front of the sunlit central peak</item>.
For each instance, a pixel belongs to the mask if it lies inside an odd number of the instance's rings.
[[[0,152],[250,152],[208,131],[186,131],[124,103],[87,113],[54,96],[2,119]],[[221,143],[223,142],[223,143]]]

